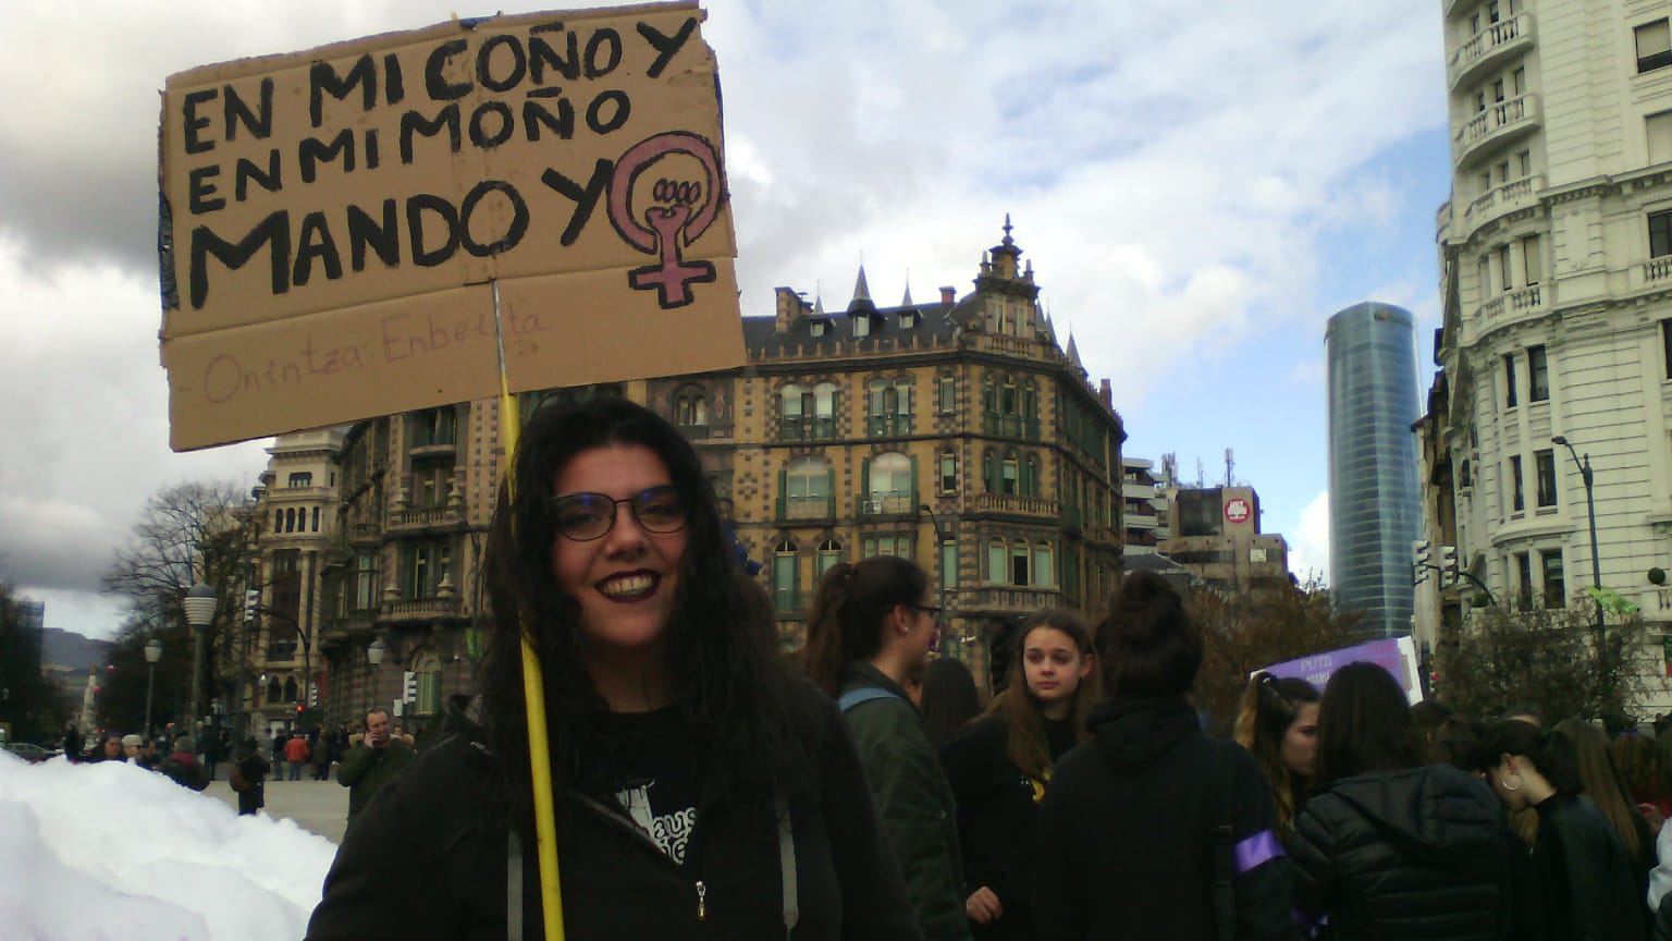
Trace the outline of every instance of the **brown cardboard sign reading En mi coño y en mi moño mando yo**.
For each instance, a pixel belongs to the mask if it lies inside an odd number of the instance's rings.
[[[500,338],[513,392],[741,365],[702,18],[455,20],[169,77],[172,447],[497,395]]]

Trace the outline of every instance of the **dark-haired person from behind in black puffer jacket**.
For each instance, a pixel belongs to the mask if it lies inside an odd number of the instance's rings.
[[[1329,676],[1318,708],[1318,787],[1289,852],[1294,908],[1331,938],[1496,941],[1510,857],[1491,794],[1425,765],[1404,690],[1374,663]]]

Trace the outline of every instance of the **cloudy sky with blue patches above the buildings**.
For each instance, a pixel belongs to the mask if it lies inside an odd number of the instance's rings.
[[[263,442],[172,454],[157,360],[157,92],[194,65],[495,10],[430,0],[8,0],[0,57],[0,579],[110,635],[99,574],[147,496],[254,482]],[[1037,7],[1025,10],[1025,7]],[[1005,214],[1127,454],[1261,492],[1328,574],[1323,328],[1438,318],[1438,3],[712,0],[746,315],[970,290]],[[1425,383],[1431,372],[1423,362]]]

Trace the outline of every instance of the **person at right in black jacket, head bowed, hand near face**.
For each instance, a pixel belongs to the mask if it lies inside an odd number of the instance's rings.
[[[1642,941],[1649,899],[1620,836],[1580,799],[1573,740],[1511,718],[1486,732],[1480,764],[1505,807],[1538,812],[1532,862],[1548,936]]]

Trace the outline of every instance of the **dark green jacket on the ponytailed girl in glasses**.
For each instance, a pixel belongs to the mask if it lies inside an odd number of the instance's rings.
[[[883,829],[895,844],[918,926],[928,941],[968,941],[963,854],[946,772],[906,692],[869,663],[854,663],[843,676],[843,692],[863,686],[891,693],[854,705],[844,718],[859,745],[859,764]]]

